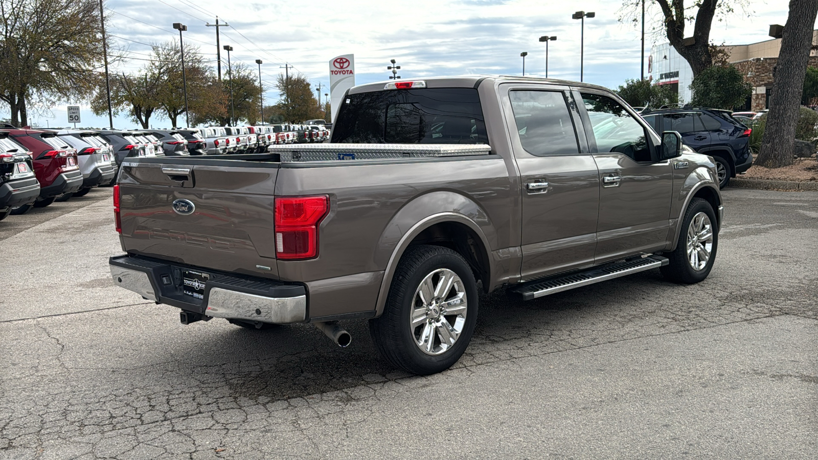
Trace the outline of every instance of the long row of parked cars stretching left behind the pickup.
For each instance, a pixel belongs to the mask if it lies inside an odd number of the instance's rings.
[[[271,145],[325,142],[320,124],[191,129],[0,129],[0,220],[113,185],[131,156],[263,153]]]

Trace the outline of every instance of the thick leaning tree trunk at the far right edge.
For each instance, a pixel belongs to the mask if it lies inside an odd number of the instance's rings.
[[[781,51],[773,71],[775,81],[756,165],[780,168],[793,164],[795,128],[812,46],[812,25],[818,0],[790,0]]]

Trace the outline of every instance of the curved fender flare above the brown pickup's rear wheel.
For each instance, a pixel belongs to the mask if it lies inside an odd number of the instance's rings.
[[[385,265],[386,269],[375,304],[376,317],[384,311],[389,286],[403,252],[420,232],[444,222],[461,223],[470,228],[487,252],[497,248],[497,231],[488,213],[469,197],[450,191],[430,192],[416,197],[398,210],[378,241],[375,261],[379,266]],[[486,260],[490,279],[494,279],[494,260],[488,253]]]

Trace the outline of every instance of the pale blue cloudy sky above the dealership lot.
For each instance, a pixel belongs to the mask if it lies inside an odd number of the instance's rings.
[[[767,39],[771,24],[784,24],[784,0],[747,1],[729,16],[714,21],[711,39],[721,44],[754,43]],[[527,75],[545,75],[546,48],[537,38],[556,35],[549,47],[549,76],[579,79],[580,21],[574,11],[595,11],[585,21],[585,80],[616,88],[625,79],[640,76],[640,29],[622,24],[620,0],[330,0],[299,2],[267,0],[106,0],[112,11],[108,33],[130,57],[114,70],[137,70],[149,57],[150,43],[178,37],[174,22],[187,25],[185,43],[216,60],[215,16],[227,21],[221,44],[234,47],[231,60],[256,68],[263,60],[265,101],[279,97],[272,83],[285,63],[305,74],[313,88],[329,85],[328,61],[334,56],[355,55],[356,83],[388,79],[389,59],[398,61],[403,79],[455,74],[521,74],[520,52]],[[650,11],[647,29],[659,24],[658,11]],[[720,20],[718,20],[720,19]],[[691,26],[692,28],[692,26]],[[661,34],[648,34],[645,53]],[[645,56],[645,60],[647,57]],[[227,56],[222,56],[227,65]],[[222,67],[223,72],[223,67]],[[645,70],[646,72],[646,70]],[[321,93],[325,92],[323,89]],[[326,91],[328,92],[328,91]],[[83,125],[106,126],[82,106]],[[7,107],[0,113],[7,116]],[[34,115],[34,123],[65,126],[65,106],[50,114]],[[50,116],[49,116],[50,115]],[[167,120],[153,120],[155,126]],[[126,116],[115,119],[121,128],[133,127]]]

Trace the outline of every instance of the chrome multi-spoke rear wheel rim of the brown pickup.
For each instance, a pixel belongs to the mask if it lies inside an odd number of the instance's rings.
[[[415,345],[425,354],[443,354],[455,344],[465,325],[467,299],[457,273],[439,268],[417,286],[409,319]]]

